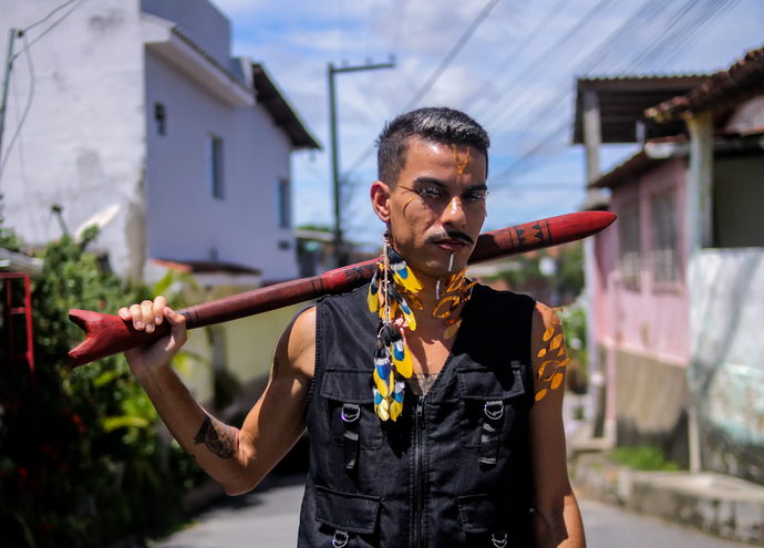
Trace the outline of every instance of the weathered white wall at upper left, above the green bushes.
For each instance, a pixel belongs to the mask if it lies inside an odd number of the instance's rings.
[[[9,28],[24,28],[59,0],[0,2],[0,59]],[[30,48],[34,96],[20,139],[8,158],[0,194],[7,224],[44,245],[61,236],[54,203],[74,230],[112,204],[118,216],[92,249],[109,250],[114,269],[140,276],[145,255],[144,58],[138,0],[81,2]],[[59,15],[55,15],[56,18]],[[47,27],[29,32],[33,40]],[[21,51],[22,41],[16,41]],[[23,111],[30,77],[25,58],[11,73],[3,148]]]

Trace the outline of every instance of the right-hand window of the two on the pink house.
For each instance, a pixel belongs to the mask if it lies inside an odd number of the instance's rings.
[[[653,279],[677,280],[677,199],[673,190],[652,197],[652,272]]]

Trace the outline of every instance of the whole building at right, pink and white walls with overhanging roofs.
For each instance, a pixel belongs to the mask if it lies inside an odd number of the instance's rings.
[[[764,484],[764,48],[710,76],[578,89],[586,208],[618,215],[587,248],[595,432]],[[600,174],[600,145],[627,142]]]

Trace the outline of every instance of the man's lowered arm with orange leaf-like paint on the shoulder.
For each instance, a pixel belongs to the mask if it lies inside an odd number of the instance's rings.
[[[536,403],[528,423],[534,475],[536,546],[584,548],[584,525],[570,487],[562,427],[567,356],[557,314],[537,303],[531,350]]]

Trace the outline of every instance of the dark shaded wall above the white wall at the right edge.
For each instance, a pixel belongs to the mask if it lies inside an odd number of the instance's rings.
[[[715,247],[764,247],[764,157],[716,158],[713,178]]]

